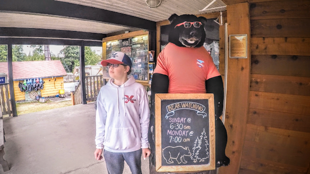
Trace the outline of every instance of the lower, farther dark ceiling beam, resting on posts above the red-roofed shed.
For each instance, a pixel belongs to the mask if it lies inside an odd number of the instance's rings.
[[[0,27],[0,36],[4,37],[39,37],[39,38],[66,38],[78,40],[102,41],[106,34],[90,33],[82,31],[68,31],[57,29],[29,29]]]

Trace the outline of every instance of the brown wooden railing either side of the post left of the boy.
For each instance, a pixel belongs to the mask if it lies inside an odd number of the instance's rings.
[[[86,76],[85,77],[85,87],[86,87],[86,100],[92,102],[97,100],[97,96],[100,88],[104,85],[104,80],[102,75]],[[72,104],[82,104],[81,97],[81,81],[78,83],[76,90],[72,92]]]

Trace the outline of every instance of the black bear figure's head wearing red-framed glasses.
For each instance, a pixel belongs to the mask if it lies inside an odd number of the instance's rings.
[[[204,25],[207,19],[191,14],[177,15],[169,17],[170,31],[169,42],[177,46],[200,47],[205,41]]]

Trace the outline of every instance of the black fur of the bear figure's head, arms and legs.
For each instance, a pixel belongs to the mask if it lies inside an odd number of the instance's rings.
[[[195,15],[181,15],[172,14],[169,18],[171,23],[169,32],[169,42],[174,43],[177,46],[182,47],[201,47],[205,42],[205,30],[204,25],[206,19],[204,17],[196,17]],[[200,28],[195,28],[193,25],[190,28],[185,28],[184,25],[175,27],[176,25],[183,22],[201,22]],[[192,40],[190,40],[192,39]],[[189,41],[195,41],[189,43]],[[181,72],[180,72],[181,73]],[[215,98],[215,116],[216,116],[216,167],[225,166],[230,163],[229,158],[225,155],[225,148],[227,144],[227,132],[219,119],[223,111],[223,100],[224,90],[223,81],[221,76],[213,77],[205,81],[205,87],[207,93],[213,93]],[[169,77],[164,74],[155,73],[152,78],[152,95],[151,95],[151,118],[150,118],[150,129],[149,129],[149,142],[152,154],[150,156],[150,166],[155,165],[155,93],[168,93],[169,88]],[[154,128],[154,127],[153,127]],[[153,131],[153,132],[152,132]],[[154,138],[154,141],[153,141]],[[152,168],[152,167],[151,167]],[[150,170],[151,171],[151,170]],[[152,172],[151,174],[157,174]],[[158,173],[159,174],[159,173]]]

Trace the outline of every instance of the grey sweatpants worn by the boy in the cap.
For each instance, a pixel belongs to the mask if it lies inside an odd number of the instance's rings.
[[[132,174],[142,174],[141,171],[142,149],[134,152],[115,153],[104,150],[108,174],[123,174],[124,161],[128,164]]]

